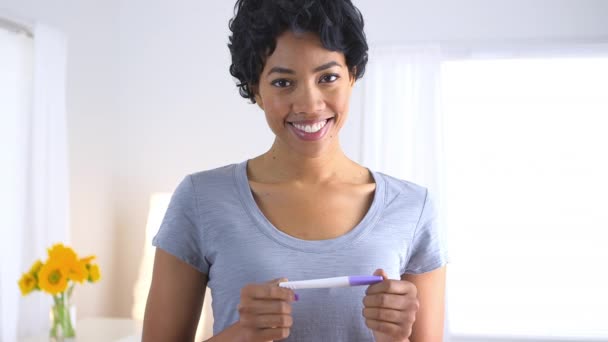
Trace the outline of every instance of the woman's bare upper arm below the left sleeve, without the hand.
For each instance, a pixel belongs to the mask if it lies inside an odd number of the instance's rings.
[[[207,275],[157,248],[142,341],[194,341]]]

